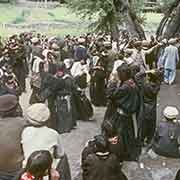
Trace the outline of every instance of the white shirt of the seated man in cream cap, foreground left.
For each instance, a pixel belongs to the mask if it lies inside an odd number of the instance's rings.
[[[60,135],[57,131],[43,127],[27,127],[23,130],[21,136],[21,143],[23,147],[25,160],[23,161],[23,167],[26,166],[27,159],[34,151],[47,150],[53,156],[53,168],[59,163],[59,160],[64,155],[64,150],[61,146]],[[55,152],[56,149],[56,152]],[[54,157],[57,154],[58,159]]]

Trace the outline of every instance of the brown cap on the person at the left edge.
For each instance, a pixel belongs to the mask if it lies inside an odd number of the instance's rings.
[[[16,108],[18,99],[15,95],[7,94],[0,96],[0,112],[9,112]]]

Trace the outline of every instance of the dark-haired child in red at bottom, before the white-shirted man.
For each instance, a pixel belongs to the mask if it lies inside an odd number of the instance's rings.
[[[59,174],[52,169],[52,156],[49,151],[35,151],[28,158],[26,167],[13,180],[59,180]]]

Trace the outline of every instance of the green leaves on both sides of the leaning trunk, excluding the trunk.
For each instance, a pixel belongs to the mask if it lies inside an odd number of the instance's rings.
[[[72,11],[82,18],[93,19],[91,28],[95,31],[112,32],[115,27],[123,21],[121,9],[126,1],[121,0],[66,0]],[[130,8],[138,17],[141,17],[141,10],[144,0],[131,1]],[[126,3],[127,6],[129,5]],[[142,21],[142,17],[139,18]]]

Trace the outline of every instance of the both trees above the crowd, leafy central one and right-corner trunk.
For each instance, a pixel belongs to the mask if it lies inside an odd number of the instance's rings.
[[[124,25],[131,35],[145,39],[141,16],[145,0],[66,0],[69,7],[82,17],[97,21],[95,30],[111,32],[118,36],[119,27]],[[160,0],[164,18],[157,28],[157,37],[180,35],[180,0]]]

